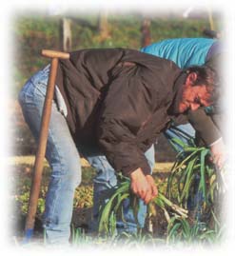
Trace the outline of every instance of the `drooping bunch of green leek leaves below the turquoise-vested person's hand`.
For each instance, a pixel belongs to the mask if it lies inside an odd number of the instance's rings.
[[[175,140],[175,143],[177,140]],[[186,144],[178,156],[171,174],[168,177],[167,196],[177,198],[178,203],[186,207],[193,182],[196,176],[200,177],[199,186],[194,193],[201,192],[207,207],[212,206],[214,194],[217,193],[220,186],[218,179],[221,171],[209,161],[210,151],[207,148],[192,148]],[[175,193],[175,184],[177,184],[177,193]],[[173,190],[174,189],[174,190]]]

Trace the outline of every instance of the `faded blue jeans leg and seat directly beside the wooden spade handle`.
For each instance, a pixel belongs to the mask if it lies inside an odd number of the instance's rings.
[[[32,76],[19,93],[25,120],[36,141],[49,78],[49,68]],[[46,198],[44,227],[49,244],[68,244],[75,188],[81,182],[79,153],[71,138],[65,117],[53,101],[49,122],[46,158],[51,167]]]

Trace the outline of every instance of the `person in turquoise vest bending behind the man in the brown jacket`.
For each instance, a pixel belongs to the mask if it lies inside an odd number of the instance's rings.
[[[209,38],[175,38],[166,39],[161,42],[149,45],[141,49],[142,52],[152,54],[173,61],[181,69],[186,69],[193,65],[206,65],[215,70],[218,75],[217,83],[222,81],[223,50],[221,43]],[[222,85],[220,85],[222,87]],[[221,89],[222,91],[222,89]],[[221,124],[218,122],[222,112],[222,103],[215,103],[208,108],[199,108],[196,111],[188,111],[188,123],[179,125],[192,137],[197,138],[197,142],[202,140],[206,147],[210,148],[213,161],[218,167],[223,167],[225,162],[225,144],[222,136]],[[174,124],[177,126],[177,122]],[[196,131],[196,134],[195,134]],[[174,136],[171,129],[167,129],[168,139]],[[184,138],[181,138],[184,141]]]

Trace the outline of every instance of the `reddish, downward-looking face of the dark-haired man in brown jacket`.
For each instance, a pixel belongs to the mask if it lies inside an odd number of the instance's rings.
[[[179,112],[183,113],[186,110],[196,110],[201,106],[209,106],[210,93],[205,85],[191,86],[191,80],[186,79],[186,84],[183,89],[182,100],[179,104]]]

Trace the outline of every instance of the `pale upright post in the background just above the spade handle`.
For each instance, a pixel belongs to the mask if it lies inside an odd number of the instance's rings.
[[[60,23],[60,45],[64,51],[71,50],[71,20],[62,18]]]

